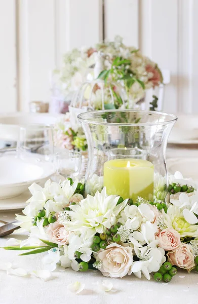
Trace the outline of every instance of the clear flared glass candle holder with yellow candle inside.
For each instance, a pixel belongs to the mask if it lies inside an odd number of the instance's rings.
[[[168,186],[166,146],[177,117],[140,110],[102,110],[78,115],[88,142],[86,193],[106,186],[108,195],[153,200]]]

